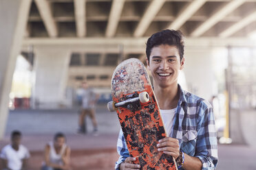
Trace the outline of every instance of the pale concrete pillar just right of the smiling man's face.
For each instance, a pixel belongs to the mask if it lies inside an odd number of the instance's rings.
[[[215,93],[213,49],[210,47],[187,47],[184,53],[184,74],[188,90],[206,100]]]

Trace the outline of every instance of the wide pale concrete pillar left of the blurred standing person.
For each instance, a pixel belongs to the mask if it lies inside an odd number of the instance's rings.
[[[56,109],[65,105],[70,49],[34,47],[35,81],[32,90],[34,108]]]

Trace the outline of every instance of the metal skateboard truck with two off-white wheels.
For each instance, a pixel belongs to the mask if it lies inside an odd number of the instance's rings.
[[[125,101],[120,101],[118,103],[115,103],[114,101],[109,101],[107,103],[107,109],[110,112],[114,112],[117,107],[124,107],[127,108],[131,111],[135,111],[140,109],[140,103],[146,103],[147,101],[149,101],[149,93],[147,93],[146,91],[142,92],[142,93],[134,93],[131,95],[127,96],[127,99]]]

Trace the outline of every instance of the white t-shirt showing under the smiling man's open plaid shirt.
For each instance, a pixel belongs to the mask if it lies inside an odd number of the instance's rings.
[[[173,108],[171,110],[160,109],[162,121],[164,122],[164,127],[165,127],[165,130],[166,130],[168,136],[170,136],[170,134],[171,134],[171,127],[173,126],[173,120],[174,120],[174,115],[175,115],[176,109],[177,108]]]

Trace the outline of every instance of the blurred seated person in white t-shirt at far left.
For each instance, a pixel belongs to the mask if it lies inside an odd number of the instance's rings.
[[[11,135],[11,144],[1,150],[0,160],[3,169],[25,170],[30,153],[21,145],[21,132],[14,130]]]

